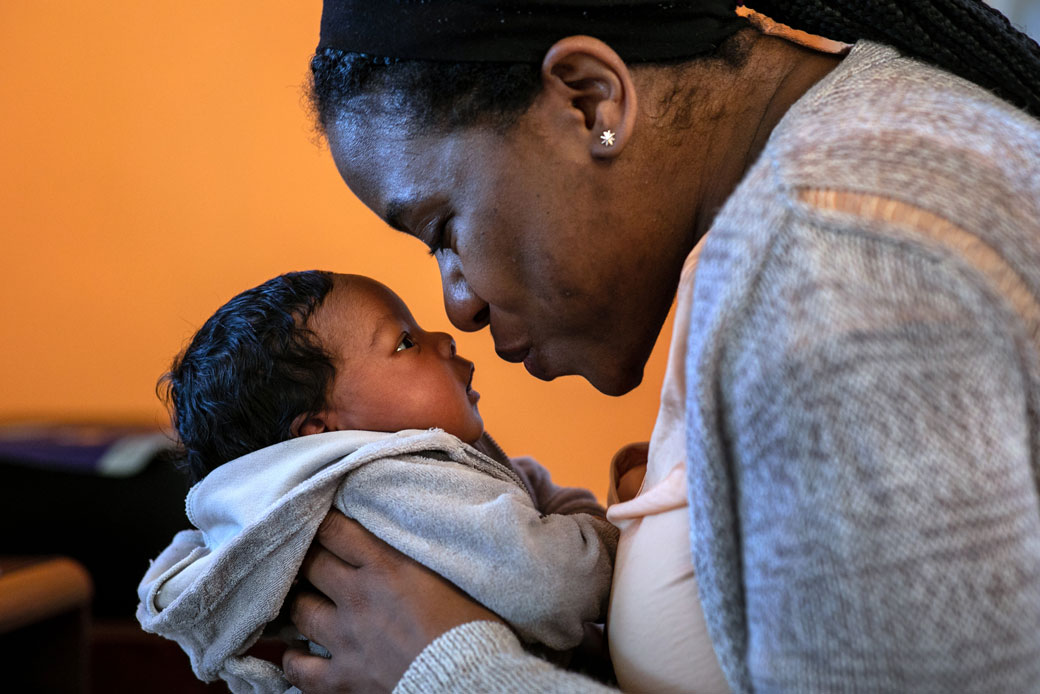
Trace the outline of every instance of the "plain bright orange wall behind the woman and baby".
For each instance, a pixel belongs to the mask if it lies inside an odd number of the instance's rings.
[[[0,3],[0,417],[163,420],[157,377],[245,287],[320,267],[444,317],[436,264],[342,184],[305,108],[319,0]],[[667,333],[666,333],[667,334]],[[457,335],[491,431],[600,496],[662,374],[622,399]]]

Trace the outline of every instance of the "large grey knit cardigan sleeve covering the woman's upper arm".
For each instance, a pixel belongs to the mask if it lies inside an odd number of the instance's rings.
[[[754,691],[1038,691],[1015,301],[939,243],[777,238],[716,378]]]

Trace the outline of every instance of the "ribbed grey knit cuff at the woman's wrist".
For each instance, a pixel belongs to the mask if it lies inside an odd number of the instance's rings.
[[[607,694],[617,690],[526,653],[509,627],[470,622],[419,653],[394,694]]]

